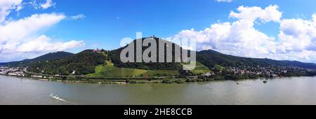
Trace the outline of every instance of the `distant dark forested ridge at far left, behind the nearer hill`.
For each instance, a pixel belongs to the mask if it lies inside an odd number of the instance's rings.
[[[7,63],[0,63],[0,65],[6,65],[6,66],[25,66],[29,63],[32,62],[43,62],[43,61],[50,61],[50,60],[56,60],[56,59],[62,59],[65,57],[70,57],[74,55],[73,53],[70,52],[50,52],[48,54],[45,55],[41,55],[39,57],[36,57],[34,59],[24,59],[22,61],[18,61],[18,62],[7,62]]]

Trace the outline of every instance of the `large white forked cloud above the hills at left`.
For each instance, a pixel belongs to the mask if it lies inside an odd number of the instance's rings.
[[[84,45],[83,41],[54,42],[48,36],[39,35],[39,31],[42,32],[65,18],[65,15],[57,13],[35,14],[0,25],[1,58],[12,58],[14,55],[19,59],[22,55],[27,55],[27,52],[67,50]]]

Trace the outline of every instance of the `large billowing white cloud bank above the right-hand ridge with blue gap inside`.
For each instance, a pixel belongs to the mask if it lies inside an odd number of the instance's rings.
[[[285,19],[278,6],[244,7],[232,11],[235,22],[220,22],[202,31],[183,30],[172,38],[195,38],[198,50],[213,49],[230,55],[316,62],[316,14],[312,20]],[[256,22],[279,22],[277,38],[254,27]]]

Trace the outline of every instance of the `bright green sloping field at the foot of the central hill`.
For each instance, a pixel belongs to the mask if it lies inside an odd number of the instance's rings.
[[[109,77],[109,78],[135,78],[135,77],[160,77],[160,76],[178,76],[178,71],[171,70],[143,70],[143,69],[128,69],[118,68],[110,61],[105,61],[105,66],[96,66],[96,73],[88,74],[93,77]]]

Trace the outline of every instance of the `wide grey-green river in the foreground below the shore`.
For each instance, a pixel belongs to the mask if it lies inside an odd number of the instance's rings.
[[[0,76],[0,104],[316,104],[316,77],[185,84],[57,83]],[[50,97],[55,94],[60,99]]]

